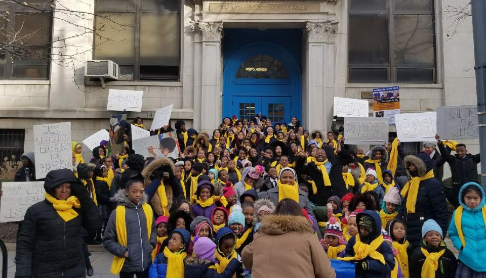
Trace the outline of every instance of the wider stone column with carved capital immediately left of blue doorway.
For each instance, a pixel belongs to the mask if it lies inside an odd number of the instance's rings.
[[[212,131],[221,122],[221,38],[223,22],[199,21],[202,40],[201,130]]]

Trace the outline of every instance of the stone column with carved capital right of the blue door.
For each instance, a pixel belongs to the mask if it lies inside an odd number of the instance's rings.
[[[329,107],[332,110],[334,99],[334,38],[337,24],[332,21],[306,22],[302,106],[306,113],[303,122],[308,130],[327,130],[328,110]]]

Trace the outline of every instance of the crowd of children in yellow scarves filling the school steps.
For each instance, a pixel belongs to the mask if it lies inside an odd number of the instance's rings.
[[[254,265],[240,255],[286,198],[299,204],[329,259],[353,262],[356,277],[486,277],[484,192],[465,180],[444,230],[438,214],[424,212],[421,189],[437,166],[429,153],[403,157],[395,139],[365,154],[343,144],[342,129],[323,136],[295,117],[291,124],[224,118],[211,137],[183,121],[175,127],[177,160],[143,158],[129,147],[107,156],[101,143],[89,165],[73,143],[73,170],[103,219],[89,240],[102,238],[120,277],[251,277]],[[461,148],[446,143],[444,157]],[[407,173],[402,186],[397,168]],[[427,194],[445,196],[443,186]],[[409,241],[414,217],[421,239]],[[444,244],[447,230],[459,260]]]

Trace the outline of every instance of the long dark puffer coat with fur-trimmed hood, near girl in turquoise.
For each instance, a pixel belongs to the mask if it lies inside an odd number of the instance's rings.
[[[426,162],[422,159],[425,159]],[[426,153],[407,156],[404,159],[406,169],[410,163],[417,166],[419,176],[424,176],[432,169],[432,160]],[[400,206],[397,218],[405,223],[407,239],[414,248],[418,247],[422,241],[422,225],[428,219],[434,219],[442,228],[443,235],[447,234],[449,212],[444,187],[440,181],[436,178],[429,178],[420,182],[415,213],[407,213],[407,198],[408,196],[402,201],[403,205]]]

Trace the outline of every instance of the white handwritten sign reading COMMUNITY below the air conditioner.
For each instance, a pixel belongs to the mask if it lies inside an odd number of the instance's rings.
[[[106,110],[142,111],[143,91],[110,89]]]

